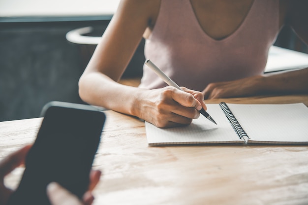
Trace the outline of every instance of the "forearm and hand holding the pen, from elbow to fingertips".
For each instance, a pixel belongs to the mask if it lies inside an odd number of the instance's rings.
[[[206,109],[201,92],[175,87],[143,89],[122,85],[99,72],[86,72],[79,80],[79,95],[92,105],[137,116],[157,127],[189,125]]]

